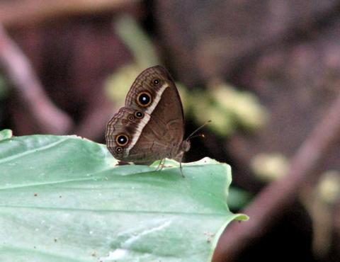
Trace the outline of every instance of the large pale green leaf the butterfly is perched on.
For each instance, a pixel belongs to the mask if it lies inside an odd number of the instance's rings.
[[[75,136],[0,141],[1,261],[209,261],[230,221],[230,168],[212,159],[115,166]]]

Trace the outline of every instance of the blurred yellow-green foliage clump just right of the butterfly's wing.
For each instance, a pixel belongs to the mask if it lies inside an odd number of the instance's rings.
[[[212,120],[208,128],[221,137],[234,135],[239,128],[259,130],[266,125],[268,111],[254,94],[239,91],[225,83],[209,86],[208,91],[184,93],[198,125]]]

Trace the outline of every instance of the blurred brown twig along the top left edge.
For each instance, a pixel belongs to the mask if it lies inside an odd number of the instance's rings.
[[[0,3],[0,23],[5,27],[39,23],[50,18],[115,10],[137,0],[24,0]]]

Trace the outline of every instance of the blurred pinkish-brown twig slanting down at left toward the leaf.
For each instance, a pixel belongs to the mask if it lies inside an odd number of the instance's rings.
[[[71,118],[50,101],[30,62],[1,25],[0,67],[21,98],[25,114],[33,117],[40,132],[65,134],[71,129]]]

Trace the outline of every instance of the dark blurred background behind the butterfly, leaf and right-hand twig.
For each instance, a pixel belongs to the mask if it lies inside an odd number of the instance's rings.
[[[162,64],[186,132],[212,120],[186,161],[232,166],[234,212],[285,176],[340,90],[335,0],[1,0],[0,25],[0,130],[104,143],[137,74]],[[340,261],[339,139],[328,151],[237,261]]]

